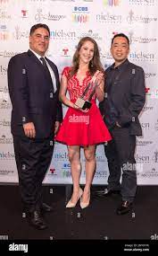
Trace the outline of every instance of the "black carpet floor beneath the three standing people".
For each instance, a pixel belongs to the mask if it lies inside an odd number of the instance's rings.
[[[44,186],[45,202],[54,211],[46,213],[48,228],[38,231],[21,212],[19,186],[0,186],[0,240],[158,240],[158,186],[138,186],[133,210],[117,216],[118,195],[104,197],[103,186],[93,186],[89,207],[65,208],[70,186]],[[69,194],[68,194],[69,193]]]

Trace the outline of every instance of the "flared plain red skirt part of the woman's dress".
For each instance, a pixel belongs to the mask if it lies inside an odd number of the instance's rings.
[[[69,108],[54,139],[68,146],[92,146],[112,139],[96,103],[87,113]]]

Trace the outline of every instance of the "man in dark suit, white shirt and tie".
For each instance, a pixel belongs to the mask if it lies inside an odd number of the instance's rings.
[[[12,136],[21,200],[29,223],[45,229],[42,181],[51,163],[54,134],[62,121],[57,67],[45,57],[50,31],[46,24],[30,29],[29,51],[11,58],[8,87],[12,102]]]

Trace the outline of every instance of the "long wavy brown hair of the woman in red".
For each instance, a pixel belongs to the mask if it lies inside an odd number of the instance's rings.
[[[79,40],[79,44],[78,44],[77,49],[76,49],[76,51],[73,55],[72,67],[71,67],[71,72],[70,72],[71,76],[78,72],[78,69],[79,69],[79,50],[81,49],[81,47],[83,46],[83,44],[86,41],[90,41],[94,44],[94,57],[89,62],[89,66],[88,66],[90,75],[94,75],[96,70],[100,70],[100,71],[104,72],[104,68],[103,68],[103,66],[101,64],[101,61],[100,61],[100,54],[99,54],[99,49],[98,49],[96,40],[94,40],[90,37],[84,37],[81,40]]]

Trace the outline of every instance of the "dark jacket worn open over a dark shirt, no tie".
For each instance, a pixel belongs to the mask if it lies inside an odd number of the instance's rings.
[[[113,65],[112,65],[113,66]],[[131,135],[142,135],[138,115],[146,101],[145,75],[140,66],[136,66],[127,59],[122,66],[121,74],[112,80],[112,66],[109,66],[106,73],[105,97],[100,103],[101,113],[106,115],[108,111],[109,98],[117,110],[117,121],[121,127],[129,127]],[[111,80],[111,82],[110,82]],[[112,86],[112,88],[110,88]]]

